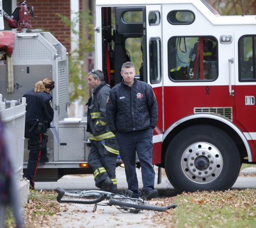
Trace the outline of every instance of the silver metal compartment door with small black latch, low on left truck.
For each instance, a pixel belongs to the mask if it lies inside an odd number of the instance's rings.
[[[84,127],[59,127],[59,161],[84,160]]]

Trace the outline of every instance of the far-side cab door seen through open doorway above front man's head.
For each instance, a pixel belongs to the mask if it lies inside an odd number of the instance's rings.
[[[141,61],[145,62],[146,52],[143,52],[145,45],[144,37],[146,34],[144,21],[145,7],[116,8],[116,33],[114,51],[115,84],[121,81],[121,66],[126,61],[131,61],[135,64],[136,75],[141,77],[141,75],[139,75],[140,71],[138,69],[140,68],[140,64],[137,63]],[[146,79],[146,66],[144,66],[143,72]]]

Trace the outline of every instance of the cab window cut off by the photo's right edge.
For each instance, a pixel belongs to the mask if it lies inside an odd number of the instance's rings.
[[[256,81],[256,36],[242,36],[239,47],[239,81]]]

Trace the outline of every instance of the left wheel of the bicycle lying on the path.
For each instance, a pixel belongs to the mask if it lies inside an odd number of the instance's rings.
[[[98,193],[96,191],[80,191],[80,190],[63,190],[61,188],[55,189],[58,193],[58,202],[72,202],[82,204],[95,204],[104,200],[107,195]],[[65,198],[62,198],[66,196]]]

